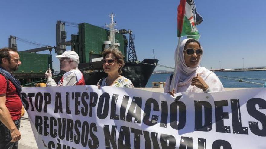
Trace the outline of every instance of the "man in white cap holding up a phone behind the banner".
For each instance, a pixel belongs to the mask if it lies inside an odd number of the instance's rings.
[[[74,85],[85,85],[83,74],[78,70],[79,55],[74,51],[65,51],[62,55],[57,55],[60,61],[60,69],[66,73],[63,75],[61,80],[56,84],[52,79],[52,73],[49,68],[45,73],[47,78],[47,86],[74,86]]]

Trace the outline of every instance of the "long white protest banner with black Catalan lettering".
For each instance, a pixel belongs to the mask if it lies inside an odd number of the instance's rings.
[[[210,94],[23,88],[38,148],[266,148],[266,88]]]

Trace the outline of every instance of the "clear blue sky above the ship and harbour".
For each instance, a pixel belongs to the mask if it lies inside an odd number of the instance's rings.
[[[135,1],[0,1],[0,47],[8,46],[9,35],[55,45],[57,20],[104,26],[114,12],[118,28],[135,34],[138,60],[159,59],[159,64],[174,67],[177,46],[177,6],[179,0]],[[203,22],[197,26],[204,49],[201,65],[210,69],[266,66],[265,0],[195,0]],[[68,39],[77,28],[66,26]],[[18,50],[37,48],[17,41]],[[67,49],[70,49],[68,47]],[[41,53],[48,54],[48,51]],[[59,69],[53,54],[55,70]],[[23,63],[23,62],[22,62]],[[157,67],[156,70],[170,70]]]

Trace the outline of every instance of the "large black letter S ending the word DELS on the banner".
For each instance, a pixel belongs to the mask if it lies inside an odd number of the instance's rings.
[[[266,115],[261,113],[256,109],[258,104],[259,109],[266,109],[266,101],[261,98],[252,98],[247,102],[248,114],[254,117],[256,120],[260,121],[262,124],[262,129],[259,129],[258,122],[249,121],[249,129],[252,133],[258,136],[266,136]]]

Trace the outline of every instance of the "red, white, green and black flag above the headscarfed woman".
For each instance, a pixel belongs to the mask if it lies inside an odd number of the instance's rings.
[[[199,39],[200,33],[196,25],[203,21],[197,13],[194,0],[180,0],[177,8],[177,36],[189,36]]]

